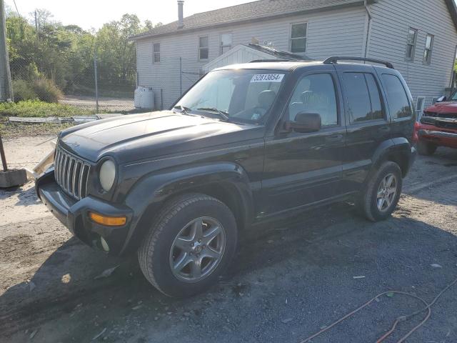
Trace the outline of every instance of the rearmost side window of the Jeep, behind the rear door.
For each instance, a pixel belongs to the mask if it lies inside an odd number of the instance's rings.
[[[388,107],[393,118],[406,118],[412,116],[408,96],[398,76],[383,74],[383,84],[386,87]]]

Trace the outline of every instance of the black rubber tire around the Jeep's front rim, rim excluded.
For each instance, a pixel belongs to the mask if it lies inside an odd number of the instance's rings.
[[[181,229],[199,217],[216,219],[225,232],[224,253],[208,276],[196,282],[184,282],[171,270],[171,249]],[[190,297],[204,292],[229,266],[236,252],[236,220],[229,207],[204,194],[186,194],[168,202],[159,212],[139,251],[139,265],[146,279],[169,297]]]

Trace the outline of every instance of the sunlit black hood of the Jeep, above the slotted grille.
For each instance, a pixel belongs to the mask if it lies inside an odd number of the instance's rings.
[[[123,164],[258,138],[259,129],[256,125],[157,111],[74,126],[62,131],[59,144],[89,161],[110,155]]]

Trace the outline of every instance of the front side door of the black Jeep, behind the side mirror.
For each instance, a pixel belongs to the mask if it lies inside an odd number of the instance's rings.
[[[333,66],[323,66],[298,78],[280,125],[306,112],[320,114],[322,127],[309,133],[279,129],[266,137],[261,217],[340,194],[341,154],[346,139],[341,101]]]

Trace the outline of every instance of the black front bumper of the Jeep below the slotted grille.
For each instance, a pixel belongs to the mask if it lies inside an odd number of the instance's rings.
[[[96,249],[102,249],[101,237],[109,245],[109,254],[120,255],[126,250],[126,238],[131,229],[134,212],[125,205],[110,204],[95,197],[79,201],[66,195],[54,180],[54,169],[36,180],[36,193],[49,212],[60,220],[77,238]],[[110,217],[126,216],[126,224],[106,227],[89,219],[89,212]]]

